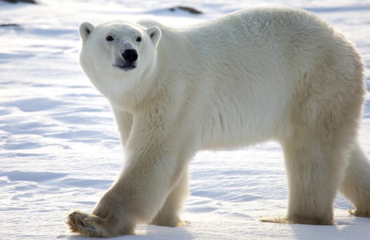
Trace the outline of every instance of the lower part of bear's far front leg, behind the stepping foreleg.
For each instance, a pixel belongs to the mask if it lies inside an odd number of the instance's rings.
[[[162,208],[150,224],[166,227],[176,227],[181,225],[179,212],[186,196],[188,195],[189,182],[188,167],[185,168],[186,169],[182,173],[178,184],[174,186],[172,192],[169,193]]]

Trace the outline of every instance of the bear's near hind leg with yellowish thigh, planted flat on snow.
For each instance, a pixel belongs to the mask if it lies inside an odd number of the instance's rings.
[[[360,57],[345,45],[346,60],[318,63],[299,80],[278,136],[288,175],[288,215],[263,221],[334,224],[333,202],[356,142],[365,93]]]

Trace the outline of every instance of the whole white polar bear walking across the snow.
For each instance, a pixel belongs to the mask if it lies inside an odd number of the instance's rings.
[[[340,190],[370,217],[370,163],[357,141],[365,87],[354,45],[296,9],[243,10],[183,28],[155,21],[80,25],[80,64],[109,100],[127,163],[73,232],[110,237],[181,224],[188,164],[201,149],[281,143],[288,214],[334,224]]]

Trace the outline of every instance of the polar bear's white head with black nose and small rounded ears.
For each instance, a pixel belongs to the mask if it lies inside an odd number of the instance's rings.
[[[125,21],[110,21],[79,27],[82,40],[80,64],[92,83],[108,99],[137,91],[143,75],[155,65],[161,38],[157,26],[144,27]],[[121,97],[122,98],[122,97]]]

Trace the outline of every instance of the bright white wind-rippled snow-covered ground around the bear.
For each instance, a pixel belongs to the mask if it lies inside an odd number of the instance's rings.
[[[370,2],[39,0],[0,2],[0,239],[82,239],[64,224],[69,211],[90,211],[122,166],[123,151],[108,102],[77,62],[78,25],[156,18],[181,26],[256,6],[300,7],[345,32],[364,56],[370,91]],[[186,5],[205,14],[166,9]],[[370,95],[360,142],[370,156]],[[347,213],[338,195],[335,226],[259,222],[287,211],[281,148],[269,142],[232,152],[202,152],[191,162],[184,227],[142,225],[120,239],[370,239],[370,219]]]

